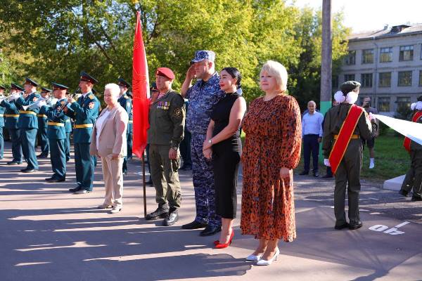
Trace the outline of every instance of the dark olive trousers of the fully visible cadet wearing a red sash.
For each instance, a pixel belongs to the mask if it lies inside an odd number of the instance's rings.
[[[359,218],[360,171],[362,168],[363,145],[360,138],[350,140],[345,155],[335,172],[334,214],[335,225],[342,226],[346,221],[345,196],[349,201],[349,221],[357,224]]]

